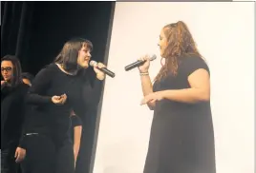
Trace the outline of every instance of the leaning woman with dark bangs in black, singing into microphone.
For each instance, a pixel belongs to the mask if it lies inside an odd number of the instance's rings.
[[[81,71],[89,67],[93,45],[84,39],[68,41],[56,63],[41,69],[30,88],[27,103],[34,105],[27,118],[21,145],[27,149],[22,163],[27,173],[73,173],[74,151],[69,138],[70,113],[83,116],[86,102]],[[98,64],[98,67],[104,67]],[[105,78],[94,67],[97,81]],[[89,98],[86,98],[89,100]]]

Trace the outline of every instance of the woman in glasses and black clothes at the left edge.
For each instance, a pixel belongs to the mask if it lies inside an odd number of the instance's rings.
[[[1,172],[17,172],[16,162],[24,159],[26,151],[17,147],[24,119],[24,99],[28,86],[23,84],[21,66],[15,56],[1,59]],[[17,147],[17,153],[15,149]]]

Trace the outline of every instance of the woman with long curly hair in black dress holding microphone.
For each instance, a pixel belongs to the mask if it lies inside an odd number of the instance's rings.
[[[154,109],[144,173],[215,173],[209,68],[181,21],[161,29],[159,47],[153,86],[140,58],[141,105]]]

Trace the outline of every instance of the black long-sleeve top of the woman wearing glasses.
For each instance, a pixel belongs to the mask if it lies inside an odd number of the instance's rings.
[[[19,143],[28,89],[29,86],[23,83],[17,87],[1,86],[1,149]]]

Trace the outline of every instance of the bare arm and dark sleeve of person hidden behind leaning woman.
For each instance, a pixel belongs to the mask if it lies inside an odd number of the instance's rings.
[[[79,154],[81,136],[82,136],[82,122],[81,119],[75,115],[75,112],[71,112],[71,140],[74,146],[75,165]]]

